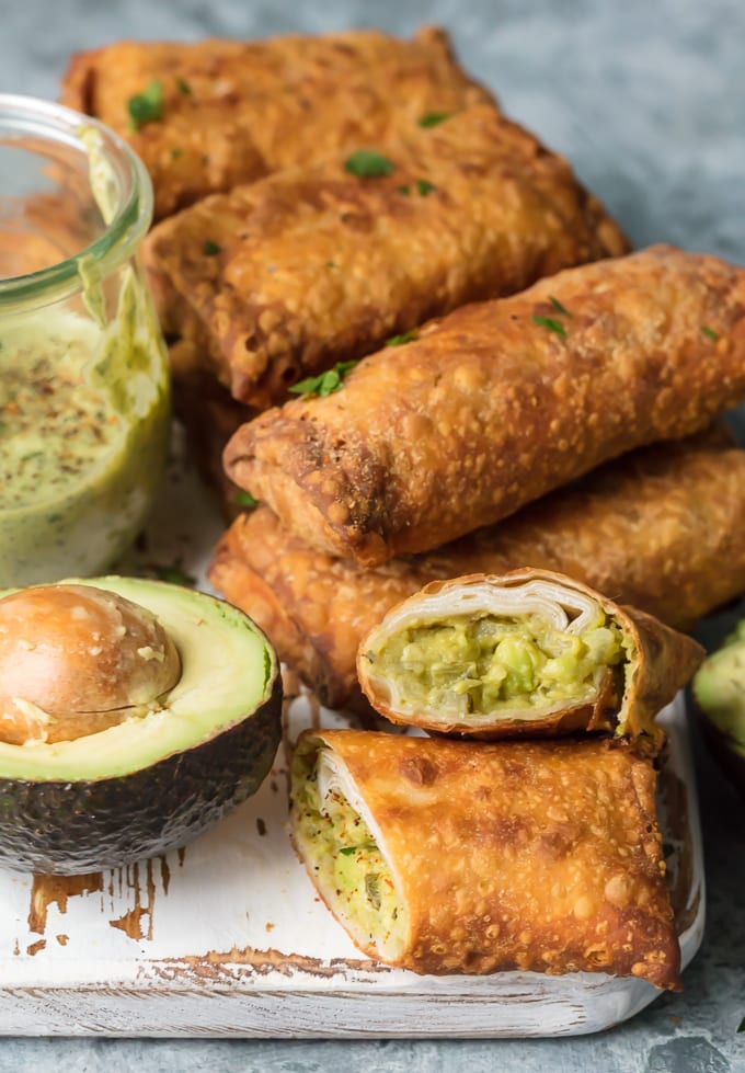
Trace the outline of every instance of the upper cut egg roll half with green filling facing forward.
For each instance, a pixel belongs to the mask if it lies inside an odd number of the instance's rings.
[[[637,608],[524,569],[425,585],[362,641],[357,673],[393,722],[481,738],[610,731],[654,750],[655,715],[702,654]]]

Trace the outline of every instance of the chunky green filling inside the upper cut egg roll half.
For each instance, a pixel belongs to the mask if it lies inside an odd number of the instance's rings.
[[[580,635],[538,615],[486,614],[402,629],[368,659],[406,707],[443,716],[509,709],[529,719],[565,701],[592,701],[605,670],[624,654],[621,630],[603,614]]]

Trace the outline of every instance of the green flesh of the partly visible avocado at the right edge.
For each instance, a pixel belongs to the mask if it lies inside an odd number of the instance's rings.
[[[745,760],[745,619],[703,661],[694,677],[694,695],[727,749]]]

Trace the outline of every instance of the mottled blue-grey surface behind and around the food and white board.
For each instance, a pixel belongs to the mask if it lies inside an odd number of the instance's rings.
[[[745,0],[0,0],[0,90],[54,98],[67,56],[116,37],[264,36],[423,22],[452,34],[505,111],[565,153],[637,244],[745,264]],[[741,420],[745,429],[745,421]],[[723,564],[725,568],[725,564]],[[711,619],[715,643],[742,608]],[[683,995],[561,1041],[0,1041],[0,1070],[745,1073],[743,802],[697,743],[709,882]],[[0,974],[2,967],[0,966]]]

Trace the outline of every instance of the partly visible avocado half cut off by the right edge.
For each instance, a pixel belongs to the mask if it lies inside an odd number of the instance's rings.
[[[745,619],[703,661],[692,688],[712,755],[745,797]]]

